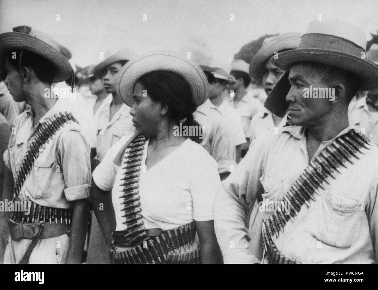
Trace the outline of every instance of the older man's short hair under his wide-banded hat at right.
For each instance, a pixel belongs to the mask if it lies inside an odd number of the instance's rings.
[[[318,62],[295,62],[291,64],[291,67],[298,64],[311,65],[312,71],[321,82],[330,84],[335,79],[342,79],[347,89],[347,101],[350,101],[361,87],[362,78],[351,71]]]

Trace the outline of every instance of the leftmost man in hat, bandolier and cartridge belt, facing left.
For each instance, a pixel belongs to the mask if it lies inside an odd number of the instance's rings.
[[[80,263],[91,187],[89,144],[54,82],[70,78],[70,51],[46,34],[17,26],[0,35],[5,83],[17,102],[30,107],[14,124],[4,154],[15,186],[8,200],[27,201],[12,212],[5,263]]]

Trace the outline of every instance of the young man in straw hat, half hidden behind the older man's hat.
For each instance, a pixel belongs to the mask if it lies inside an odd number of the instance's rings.
[[[266,95],[269,95],[277,84],[284,70],[273,64],[273,58],[277,54],[295,49],[298,47],[301,40],[299,33],[285,33],[279,36],[266,38],[262,47],[257,51],[253,57],[251,64],[249,64],[249,74],[259,82],[262,82]],[[287,114],[280,118],[272,114],[269,110],[263,109],[253,116],[250,126],[250,138],[252,141],[266,132],[274,132],[274,128],[280,128],[286,124]]]

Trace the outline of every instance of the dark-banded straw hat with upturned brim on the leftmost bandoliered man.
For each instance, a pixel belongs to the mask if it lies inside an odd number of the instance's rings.
[[[53,82],[66,81],[71,77],[73,70],[68,62],[71,52],[41,31],[23,25],[14,27],[13,32],[0,34],[0,62],[4,62],[5,54],[13,50],[31,51],[50,60],[56,69]]]

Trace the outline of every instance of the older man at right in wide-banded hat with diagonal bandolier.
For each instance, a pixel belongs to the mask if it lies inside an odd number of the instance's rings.
[[[277,116],[289,110],[294,126],[257,139],[218,189],[225,263],[378,262],[378,148],[347,114],[358,90],[378,87],[365,47],[360,28],[314,21],[296,50],[274,60],[287,73],[265,107]]]

